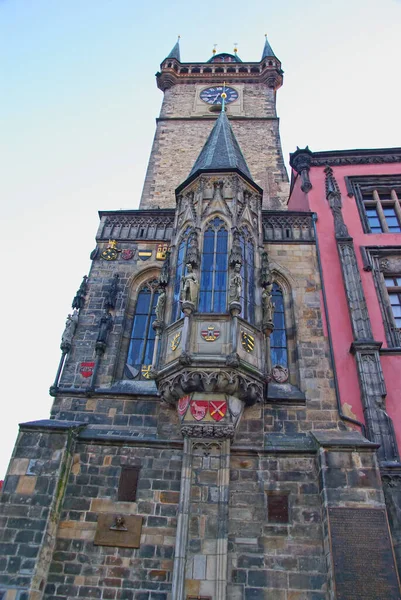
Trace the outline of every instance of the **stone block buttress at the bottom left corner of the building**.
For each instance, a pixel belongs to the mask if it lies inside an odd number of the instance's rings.
[[[38,600],[71,460],[71,431],[24,429],[0,496],[0,597]],[[5,595],[2,595],[4,592]]]

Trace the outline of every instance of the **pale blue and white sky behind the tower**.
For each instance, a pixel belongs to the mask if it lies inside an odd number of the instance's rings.
[[[97,211],[138,205],[177,34],[182,60],[203,61],[234,42],[259,60],[268,33],[287,157],[401,146],[400,30],[397,0],[0,0],[0,479],[17,423],[48,417]]]

